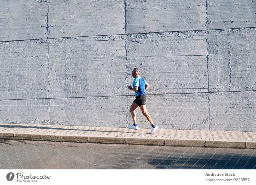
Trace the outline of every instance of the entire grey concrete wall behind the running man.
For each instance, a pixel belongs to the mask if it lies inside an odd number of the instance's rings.
[[[256,131],[256,2],[4,0],[0,122]],[[137,110],[141,128],[150,128]]]

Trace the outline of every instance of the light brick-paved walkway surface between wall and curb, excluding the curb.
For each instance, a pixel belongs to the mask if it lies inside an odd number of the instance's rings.
[[[37,128],[38,127],[38,128]],[[158,129],[148,134],[150,129],[129,130],[114,127],[85,127],[66,125],[24,125],[0,124],[0,133],[41,133],[57,135],[85,135],[108,137],[136,137],[136,138],[163,138],[163,139],[204,139],[204,140],[234,140],[256,141],[256,132],[235,131],[197,131],[197,130],[170,130]],[[199,137],[198,137],[199,136]]]

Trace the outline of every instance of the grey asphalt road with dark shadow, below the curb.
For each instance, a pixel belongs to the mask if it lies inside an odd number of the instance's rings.
[[[0,169],[256,169],[256,150],[0,140]]]

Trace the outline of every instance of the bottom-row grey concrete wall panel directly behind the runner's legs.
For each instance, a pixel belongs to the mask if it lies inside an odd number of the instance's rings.
[[[133,102],[129,97],[129,104]],[[152,95],[147,98],[147,110],[159,128],[209,130],[207,94]],[[150,128],[140,110],[136,113],[140,128]],[[132,124],[129,114],[128,125]]]

